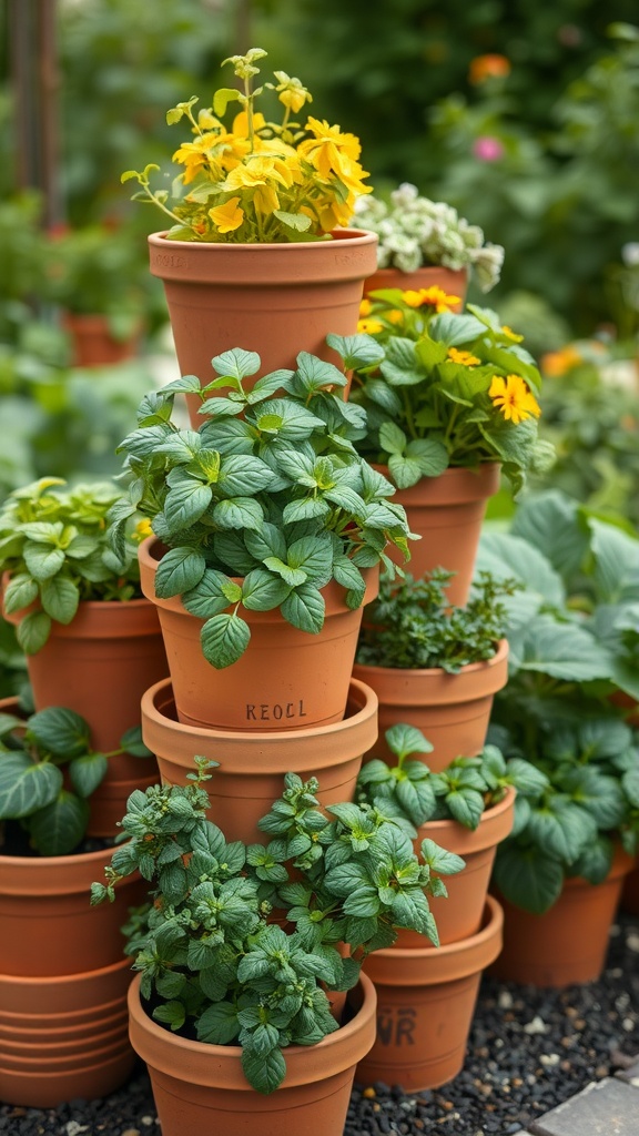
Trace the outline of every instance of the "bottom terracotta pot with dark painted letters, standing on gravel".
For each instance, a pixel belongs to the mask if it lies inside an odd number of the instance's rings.
[[[375,951],[364,969],[377,991],[377,1036],[357,1066],[363,1085],[409,1093],[437,1088],[462,1070],[482,971],[501,947],[501,909],[489,896],[482,928],[433,951]]]

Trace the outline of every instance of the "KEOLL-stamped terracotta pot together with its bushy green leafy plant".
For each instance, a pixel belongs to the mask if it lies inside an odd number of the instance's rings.
[[[297,369],[263,376],[255,352],[213,359],[143,400],[122,443],[130,503],[155,533],[140,546],[144,594],[160,611],[181,721],[284,730],[345,715],[362,604],[376,594],[387,545],[408,556],[391,484],[356,451],[360,408],[343,371],[300,352]],[[346,358],[349,366],[349,358]],[[250,384],[249,384],[250,385]],[[201,425],[171,419],[177,392],[200,401]]]

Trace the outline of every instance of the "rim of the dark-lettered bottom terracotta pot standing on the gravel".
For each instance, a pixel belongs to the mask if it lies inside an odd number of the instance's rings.
[[[390,946],[374,951],[365,962],[381,986],[435,986],[466,978],[495,961],[501,950],[504,911],[487,895],[482,926],[475,935],[442,946]]]

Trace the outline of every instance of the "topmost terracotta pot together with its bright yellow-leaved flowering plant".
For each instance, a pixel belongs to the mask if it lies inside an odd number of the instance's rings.
[[[210,359],[234,344],[259,351],[268,373],[299,351],[325,352],[331,331],[354,334],[375,268],[375,234],[347,227],[370,192],[359,140],[300,119],[312,95],[285,72],[256,89],[265,56],[224,60],[239,85],[216,91],[211,107],[192,97],[167,112],[186,131],[173,154],[175,200],[151,187],[156,166],[123,174],[171,222],[149,236],[151,273],[164,281],[181,371],[205,384]]]

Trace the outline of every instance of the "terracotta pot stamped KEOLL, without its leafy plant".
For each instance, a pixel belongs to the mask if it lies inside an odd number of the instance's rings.
[[[157,604],[179,720],[214,729],[310,729],[341,721],[364,607],[350,611],[334,580],[322,590],[324,626],[317,635],[291,627],[280,611],[244,611],[251,640],[231,667],[216,670],[204,657],[205,623],[174,596],[156,598],[161,545],[155,537],[139,549],[144,595]],[[377,594],[379,570],[365,570],[370,603]],[[148,744],[148,743],[147,743]]]

